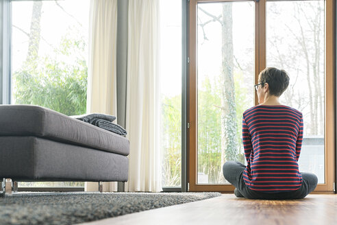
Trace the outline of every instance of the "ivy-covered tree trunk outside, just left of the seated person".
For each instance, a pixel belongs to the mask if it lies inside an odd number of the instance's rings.
[[[238,149],[236,137],[232,3],[223,3],[222,13],[221,165],[225,161],[235,161]],[[222,174],[219,181],[224,181]]]

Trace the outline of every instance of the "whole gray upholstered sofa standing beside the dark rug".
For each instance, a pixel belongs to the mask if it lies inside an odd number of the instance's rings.
[[[0,106],[0,178],[127,181],[129,141],[48,108]]]

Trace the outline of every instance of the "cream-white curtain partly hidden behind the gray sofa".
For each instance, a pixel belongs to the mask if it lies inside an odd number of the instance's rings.
[[[117,0],[91,0],[87,113],[117,115],[116,40]],[[86,191],[97,191],[86,182]],[[116,182],[103,182],[103,191],[116,191]]]

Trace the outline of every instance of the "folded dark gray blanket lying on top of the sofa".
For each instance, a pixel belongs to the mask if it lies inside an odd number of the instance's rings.
[[[125,136],[127,134],[124,128],[122,128],[116,123],[112,123],[112,121],[116,119],[116,117],[112,115],[106,115],[102,113],[91,113],[91,114],[77,115],[77,116],[71,116],[71,117],[74,119],[79,119],[86,123],[90,123],[104,130],[109,130],[110,132],[114,132],[115,134],[119,134],[122,136]]]

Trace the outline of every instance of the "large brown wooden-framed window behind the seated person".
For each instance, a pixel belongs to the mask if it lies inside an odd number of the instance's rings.
[[[260,71],[277,67],[290,74],[280,102],[303,112],[300,171],[332,191],[333,13],[332,0],[190,0],[190,190],[234,189],[222,165],[246,163],[242,112],[258,104]]]

